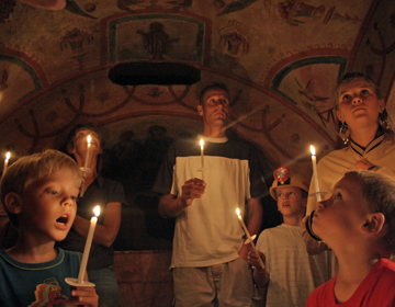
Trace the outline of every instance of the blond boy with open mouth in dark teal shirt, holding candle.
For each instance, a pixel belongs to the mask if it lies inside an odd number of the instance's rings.
[[[1,180],[1,202],[19,230],[12,248],[0,250],[0,306],[98,306],[93,287],[70,292],[81,254],[55,249],[76,217],[81,184],[77,163],[57,150],[26,156]]]

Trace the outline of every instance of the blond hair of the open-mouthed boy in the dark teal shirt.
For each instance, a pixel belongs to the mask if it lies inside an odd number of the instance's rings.
[[[68,168],[76,173],[79,186],[82,181],[80,168],[75,160],[58,150],[47,149],[44,152],[18,159],[7,169],[1,179],[1,203],[4,204],[7,194],[14,192],[22,195],[32,182],[47,178],[64,168]],[[16,215],[10,213],[5,205],[3,207],[11,223],[16,227]]]

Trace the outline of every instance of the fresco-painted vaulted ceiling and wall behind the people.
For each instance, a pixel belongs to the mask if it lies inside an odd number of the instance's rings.
[[[198,95],[214,81],[229,87],[230,133],[266,157],[268,178],[283,166],[309,179],[309,145],[318,159],[340,145],[332,94],[347,71],[371,76],[395,116],[392,0],[38,2],[0,3],[0,155],[11,150],[12,162],[59,149],[75,124],[93,123],[105,139],[103,171],[132,186],[136,224],[156,218],[146,213],[161,157],[200,132]],[[188,64],[201,80],[120,86],[109,71],[123,62]]]

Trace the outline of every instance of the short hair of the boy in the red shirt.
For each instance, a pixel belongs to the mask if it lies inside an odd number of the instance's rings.
[[[371,213],[384,215],[387,230],[383,237],[383,247],[386,252],[395,254],[395,181],[368,170],[349,171],[345,178],[351,178],[361,184],[362,196]]]

